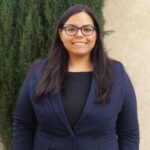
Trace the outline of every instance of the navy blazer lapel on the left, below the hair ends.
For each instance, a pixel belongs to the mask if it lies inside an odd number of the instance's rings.
[[[66,129],[70,132],[70,134],[72,135],[72,137],[75,138],[74,132],[69,124],[69,121],[67,119],[67,116],[65,114],[64,111],[64,107],[62,104],[62,100],[61,100],[61,96],[60,93],[58,94],[52,94],[51,95],[51,102],[52,105],[54,107],[54,110],[58,116],[58,118],[60,119],[61,123],[66,127]]]

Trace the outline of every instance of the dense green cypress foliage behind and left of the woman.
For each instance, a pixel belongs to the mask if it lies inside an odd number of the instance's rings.
[[[92,7],[103,27],[103,0],[0,1],[0,138],[7,150],[22,81],[32,62],[47,54],[64,10],[78,3]]]

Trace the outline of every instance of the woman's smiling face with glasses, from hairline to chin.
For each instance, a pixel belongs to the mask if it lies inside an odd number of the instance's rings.
[[[80,27],[83,26],[84,28],[81,29]],[[96,31],[93,29],[92,18],[87,13],[80,12],[72,15],[65,22],[64,27],[59,34],[69,56],[90,56],[96,42]],[[80,29],[77,30],[77,27]]]

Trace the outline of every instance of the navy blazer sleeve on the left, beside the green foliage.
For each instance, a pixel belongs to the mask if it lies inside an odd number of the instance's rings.
[[[19,99],[13,116],[13,150],[32,150],[36,118],[29,96],[32,71],[27,75],[20,90]]]

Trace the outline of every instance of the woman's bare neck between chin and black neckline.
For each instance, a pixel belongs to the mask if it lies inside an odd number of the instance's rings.
[[[69,58],[68,71],[80,72],[80,71],[92,71],[93,66],[89,57],[76,57]]]

